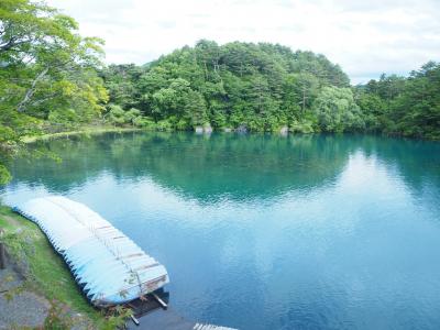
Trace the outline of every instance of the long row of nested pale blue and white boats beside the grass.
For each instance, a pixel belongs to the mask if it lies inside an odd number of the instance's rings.
[[[38,224],[98,307],[131,301],[169,282],[162,264],[82,204],[50,196],[14,210]]]

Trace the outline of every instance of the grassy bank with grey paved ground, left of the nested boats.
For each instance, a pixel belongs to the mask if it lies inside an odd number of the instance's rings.
[[[107,317],[81,295],[64,261],[35,223],[0,205],[0,229],[7,250],[7,267],[0,270],[0,299],[4,304],[0,328],[15,322],[20,329],[108,326]]]

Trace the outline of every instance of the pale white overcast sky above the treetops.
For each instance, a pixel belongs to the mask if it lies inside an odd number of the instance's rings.
[[[440,61],[440,0],[48,0],[106,40],[107,63],[144,64],[200,38],[324,54],[353,84]]]

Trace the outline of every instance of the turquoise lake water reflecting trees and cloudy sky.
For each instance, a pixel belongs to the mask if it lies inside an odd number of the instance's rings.
[[[240,329],[439,329],[440,143],[106,134],[19,160],[13,205],[63,194],[163,263],[183,316]]]

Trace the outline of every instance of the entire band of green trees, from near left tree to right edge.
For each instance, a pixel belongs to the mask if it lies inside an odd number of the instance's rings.
[[[353,87],[323,55],[277,44],[201,40],[142,66],[106,66],[102,43],[44,2],[0,2],[0,183],[23,136],[85,124],[440,139],[435,62]]]

